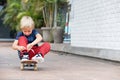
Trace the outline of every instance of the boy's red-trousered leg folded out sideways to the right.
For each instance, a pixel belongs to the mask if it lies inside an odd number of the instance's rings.
[[[40,53],[42,57],[50,51],[50,44],[48,42],[43,43],[41,46],[33,46],[29,51],[29,57],[32,59],[36,54]]]

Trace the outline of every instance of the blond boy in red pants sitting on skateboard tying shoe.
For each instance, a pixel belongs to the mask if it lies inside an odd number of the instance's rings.
[[[20,21],[21,31],[17,33],[12,48],[18,50],[20,60],[36,60],[43,62],[44,55],[50,51],[48,42],[38,46],[42,36],[34,29],[34,21],[30,16],[23,16]]]

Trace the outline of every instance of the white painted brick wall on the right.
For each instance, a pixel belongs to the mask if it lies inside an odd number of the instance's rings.
[[[120,50],[120,0],[71,1],[71,45]]]

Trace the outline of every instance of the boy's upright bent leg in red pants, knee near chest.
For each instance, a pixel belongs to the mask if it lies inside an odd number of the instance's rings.
[[[27,44],[28,44],[28,40],[25,36],[21,36],[18,39],[18,45],[19,46],[24,46],[26,49],[23,50],[22,52],[20,52],[20,56],[23,56],[24,53],[27,53]]]

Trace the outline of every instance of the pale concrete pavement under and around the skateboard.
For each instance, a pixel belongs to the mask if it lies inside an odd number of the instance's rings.
[[[49,52],[38,71],[20,70],[17,51],[0,43],[0,80],[120,80],[120,63]]]

